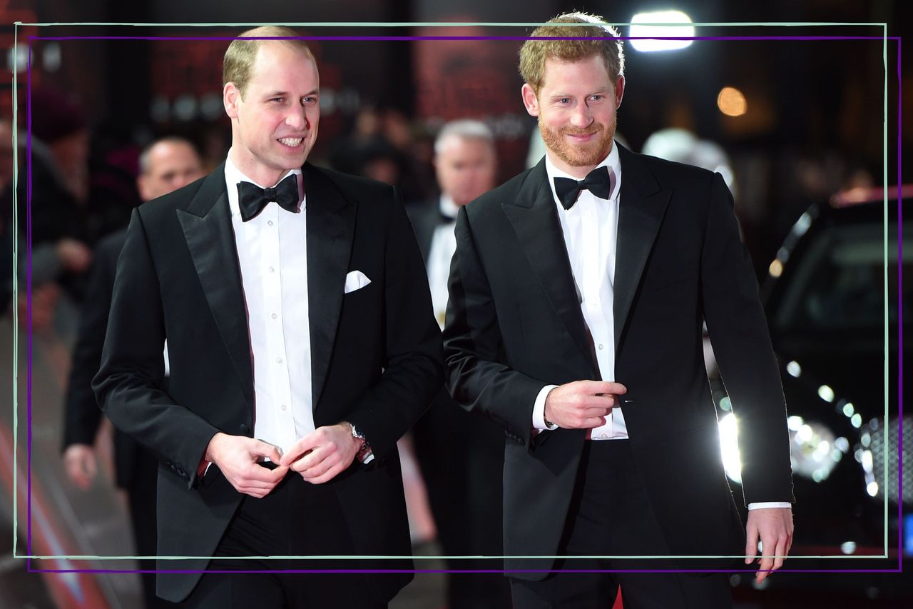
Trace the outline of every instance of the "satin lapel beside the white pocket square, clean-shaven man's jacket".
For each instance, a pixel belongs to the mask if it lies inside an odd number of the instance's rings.
[[[308,214],[310,369],[314,408],[330,369],[358,203],[342,196],[319,168],[303,167]]]

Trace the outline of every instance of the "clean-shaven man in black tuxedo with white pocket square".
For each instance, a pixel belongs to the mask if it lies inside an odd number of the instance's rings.
[[[385,606],[410,574],[283,571],[411,565],[294,557],[410,554],[395,444],[442,381],[422,258],[393,187],[306,162],[307,46],[284,27],[242,37],[223,69],[226,162],[133,213],[94,387],[162,462],[159,555],[194,558],[159,569],[210,571],[161,572],[160,596]]]

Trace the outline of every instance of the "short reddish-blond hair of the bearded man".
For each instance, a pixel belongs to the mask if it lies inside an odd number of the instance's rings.
[[[605,61],[605,67],[613,82],[624,76],[624,50],[618,30],[605,23],[601,16],[588,13],[564,13],[550,19],[546,25],[532,30],[530,37],[557,38],[555,40],[527,40],[519,49],[519,75],[536,93],[539,93],[542,79],[545,77],[546,59],[579,61],[580,59],[601,57]],[[601,39],[580,39],[584,37]]]

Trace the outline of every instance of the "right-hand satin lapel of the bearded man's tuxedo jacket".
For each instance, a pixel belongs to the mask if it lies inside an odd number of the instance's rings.
[[[672,195],[671,190],[660,186],[640,157],[624,146],[618,148],[622,191],[618,207],[613,304],[616,354],[624,337],[624,325],[637,285]]]

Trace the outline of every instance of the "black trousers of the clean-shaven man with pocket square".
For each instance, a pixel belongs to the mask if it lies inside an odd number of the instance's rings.
[[[365,509],[370,509],[365,506]],[[289,475],[267,497],[244,497],[207,572],[181,603],[194,609],[323,609],[385,607],[373,598],[362,573],[287,573],[352,570],[354,560],[296,556],[355,554],[336,493]],[[292,558],[235,558],[282,556]],[[376,576],[375,576],[376,577]]]

